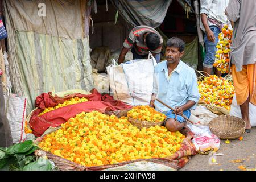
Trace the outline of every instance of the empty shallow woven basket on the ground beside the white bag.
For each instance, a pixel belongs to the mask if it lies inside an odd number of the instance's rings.
[[[221,139],[233,140],[245,133],[245,121],[233,115],[220,115],[210,121],[210,131]]]

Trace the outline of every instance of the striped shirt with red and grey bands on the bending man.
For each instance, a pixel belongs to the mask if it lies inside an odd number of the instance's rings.
[[[134,50],[138,55],[148,55],[149,49],[144,44],[143,38],[143,35],[147,32],[153,32],[155,34],[158,34],[158,36],[160,37],[159,47],[154,51],[150,51],[152,53],[160,53],[162,49],[163,38],[154,28],[148,26],[138,26],[133,28],[133,30],[130,31],[128,37],[125,39],[125,42],[123,42],[123,47],[127,49],[131,49],[134,47]]]

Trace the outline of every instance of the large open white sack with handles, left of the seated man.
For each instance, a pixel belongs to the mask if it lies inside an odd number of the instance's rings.
[[[131,60],[118,65],[113,59],[107,67],[110,89],[115,100],[126,104],[148,105],[154,86],[155,58]]]

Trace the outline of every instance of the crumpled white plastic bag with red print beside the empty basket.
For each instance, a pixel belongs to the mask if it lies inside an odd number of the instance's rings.
[[[195,133],[192,143],[195,144],[197,152],[217,151],[220,148],[220,138],[210,132],[209,126],[187,126]]]

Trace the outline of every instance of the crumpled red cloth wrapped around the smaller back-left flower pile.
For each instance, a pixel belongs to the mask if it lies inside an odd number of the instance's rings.
[[[36,97],[35,106],[39,107],[39,109],[34,111],[29,121],[32,133],[36,137],[40,137],[50,126],[60,126],[62,123],[67,122],[69,118],[75,117],[76,114],[79,114],[82,111],[90,112],[97,110],[104,113],[105,111],[124,110],[132,107],[123,103],[122,101],[114,100],[113,97],[109,96],[108,94],[101,96],[96,89],[93,89],[91,93],[92,94],[90,95],[76,93],[61,98],[57,96],[53,97],[51,96],[51,92],[49,92],[48,94],[43,93]],[[89,101],[60,107],[53,111],[49,111],[40,117],[38,116],[38,114],[41,113],[45,108],[54,107],[59,103],[63,103],[68,98],[73,98],[75,96],[79,98],[85,97]]]

